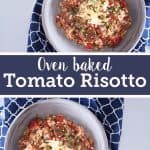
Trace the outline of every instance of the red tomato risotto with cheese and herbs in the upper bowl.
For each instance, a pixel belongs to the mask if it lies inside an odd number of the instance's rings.
[[[56,24],[86,49],[117,46],[131,26],[125,0],[61,0]]]

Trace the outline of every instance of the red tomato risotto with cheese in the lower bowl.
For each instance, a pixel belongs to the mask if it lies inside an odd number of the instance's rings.
[[[19,150],[94,150],[94,142],[83,127],[63,115],[53,115],[29,123]]]

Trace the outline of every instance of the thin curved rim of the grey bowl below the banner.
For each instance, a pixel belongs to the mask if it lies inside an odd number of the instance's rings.
[[[40,105],[40,104],[50,104],[50,103],[63,103],[63,104],[68,104],[70,103],[71,105],[76,105],[76,107],[80,107],[82,110],[84,110],[85,112],[87,112],[92,118],[93,120],[95,121],[95,123],[98,125],[99,129],[101,130],[101,134],[102,134],[102,137],[103,137],[103,142],[104,142],[104,145],[105,145],[105,150],[109,150],[109,146],[108,146],[108,139],[107,139],[107,136],[106,136],[106,132],[104,130],[104,127],[102,125],[102,123],[98,120],[98,118],[88,109],[86,108],[85,106],[83,105],[80,105],[74,101],[69,101],[67,99],[64,99],[64,98],[48,98],[48,99],[44,99],[44,98],[41,98],[40,99],[41,101],[38,101],[36,103],[33,103],[31,104],[30,106],[27,106],[24,110],[22,110],[16,117],[15,119],[13,120],[13,122],[10,124],[9,128],[8,128],[8,131],[7,131],[7,135],[5,137],[5,142],[4,142],[4,149],[7,150],[6,148],[8,147],[9,145],[9,141],[8,139],[11,137],[11,132],[12,132],[12,129],[15,125],[15,123],[17,122],[17,120],[23,115],[25,114],[28,110],[32,109],[32,107],[36,107],[36,105]],[[43,100],[43,101],[42,101]]]

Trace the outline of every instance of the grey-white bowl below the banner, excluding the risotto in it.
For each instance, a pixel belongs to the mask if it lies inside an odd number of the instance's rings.
[[[33,118],[37,116],[44,118],[56,114],[63,114],[68,119],[82,125],[87,134],[93,137],[95,150],[108,150],[108,142],[103,126],[95,115],[84,106],[57,98],[35,103],[16,117],[8,130],[5,150],[18,150],[18,141]]]

